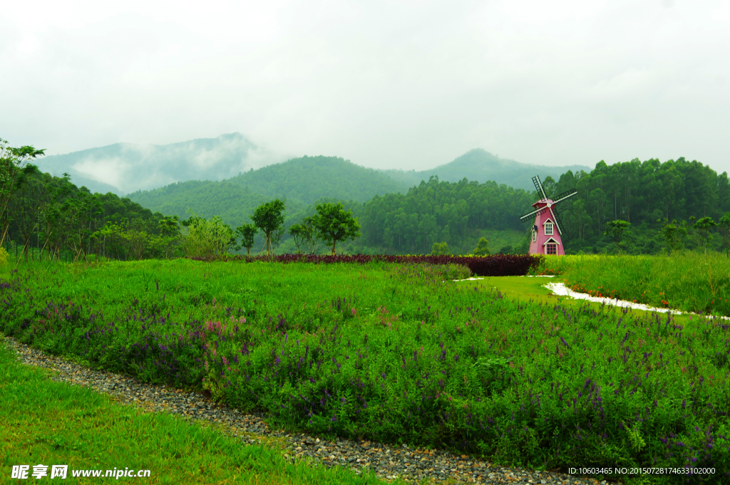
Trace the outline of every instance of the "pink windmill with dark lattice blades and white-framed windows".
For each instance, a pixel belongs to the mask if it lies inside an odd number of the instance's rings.
[[[556,200],[553,201],[545,195],[545,190],[542,188],[542,182],[540,182],[539,176],[532,177],[532,183],[534,183],[535,190],[537,190],[537,196],[542,195],[542,198],[532,204],[535,208],[534,211],[520,217],[521,222],[530,220],[532,216],[535,217],[535,222],[530,230],[529,254],[565,255],[565,248],[560,237],[563,233],[561,229],[563,223],[558,217],[556,204],[564,201],[566,198],[572,197],[578,191],[575,189],[568,190],[558,195]]]

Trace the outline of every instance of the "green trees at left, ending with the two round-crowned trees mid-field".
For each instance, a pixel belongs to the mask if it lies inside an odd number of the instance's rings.
[[[13,241],[28,257],[73,261],[90,257],[139,260],[150,257],[210,256],[247,249],[255,235],[262,252],[273,255],[282,237],[294,238],[299,252],[314,254],[320,242],[332,255],[337,243],[360,236],[360,225],[342,203],[324,202],[301,224],[285,226],[285,202],[261,203],[252,223],[231,228],[219,216],[187,219],[151,212],[113,193],[92,194],[76,187],[69,175],[51,176],[30,163],[44,155],[33,147],[9,147],[0,139],[0,247]]]

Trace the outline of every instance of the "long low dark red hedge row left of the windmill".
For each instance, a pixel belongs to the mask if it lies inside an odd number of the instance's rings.
[[[196,261],[272,261],[275,263],[429,263],[434,265],[465,265],[477,276],[523,276],[530,268],[537,268],[540,257],[535,255],[492,255],[492,256],[386,256],[386,255],[275,255],[266,256],[225,256],[225,257],[191,257]]]

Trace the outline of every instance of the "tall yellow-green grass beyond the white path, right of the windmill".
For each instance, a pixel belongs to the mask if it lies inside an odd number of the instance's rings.
[[[545,257],[537,272],[591,295],[730,316],[730,259],[717,252]]]

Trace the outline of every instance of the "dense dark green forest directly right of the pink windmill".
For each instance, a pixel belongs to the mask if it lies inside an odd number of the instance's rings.
[[[728,175],[696,160],[601,161],[591,173],[548,177],[543,187],[548,198],[577,190],[557,206],[570,252],[727,249]],[[615,221],[626,222],[623,230],[615,230]]]

